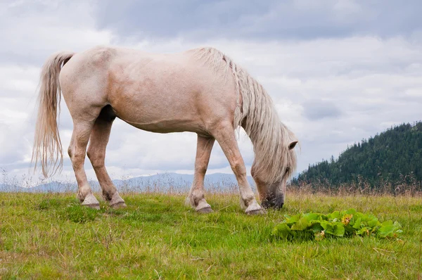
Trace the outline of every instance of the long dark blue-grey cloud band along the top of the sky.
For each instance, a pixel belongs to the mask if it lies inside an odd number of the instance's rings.
[[[422,2],[407,1],[103,1],[99,28],[120,37],[315,39],[412,36]]]

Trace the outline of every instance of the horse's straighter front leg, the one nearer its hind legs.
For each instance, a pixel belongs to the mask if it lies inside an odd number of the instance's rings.
[[[207,172],[208,163],[210,162],[210,155],[214,142],[214,138],[205,138],[198,135],[195,173],[193,174],[191,191],[189,191],[186,202],[190,203],[192,207],[200,213],[212,212],[211,206],[204,198],[204,177],[205,172]]]

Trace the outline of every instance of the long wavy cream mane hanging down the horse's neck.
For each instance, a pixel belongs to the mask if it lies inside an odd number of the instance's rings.
[[[288,145],[296,141],[293,132],[284,125],[264,87],[246,70],[236,65],[222,51],[212,47],[196,49],[196,57],[228,78],[233,75],[238,94],[234,127],[243,127],[255,152],[255,172],[264,172],[266,181],[279,182],[289,178],[296,169],[296,154]],[[242,97],[242,104],[240,101]]]

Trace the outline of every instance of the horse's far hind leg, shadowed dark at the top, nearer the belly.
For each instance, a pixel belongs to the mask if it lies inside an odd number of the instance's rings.
[[[106,106],[101,110],[92,128],[87,155],[89,160],[91,160],[92,167],[94,167],[96,177],[103,191],[103,198],[113,208],[124,208],[126,204],[117,192],[104,165],[106,146],[110,138],[111,126],[113,125],[114,119],[115,115],[110,106]]]

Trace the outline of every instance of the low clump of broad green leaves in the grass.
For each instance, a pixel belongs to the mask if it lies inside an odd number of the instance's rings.
[[[381,223],[374,215],[354,209],[334,211],[328,215],[310,212],[285,217],[283,222],[274,227],[273,236],[288,239],[315,238],[320,241],[328,236],[397,238],[397,234],[403,232],[399,222],[388,220]]]

